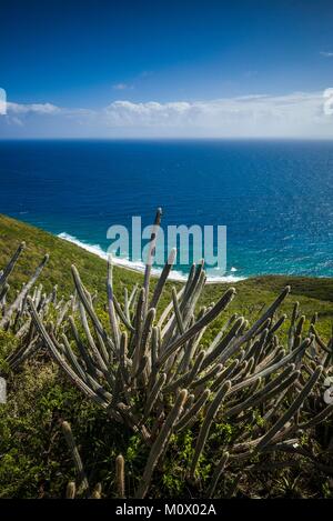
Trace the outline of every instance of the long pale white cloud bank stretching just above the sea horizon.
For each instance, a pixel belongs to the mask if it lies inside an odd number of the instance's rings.
[[[0,136],[56,138],[333,138],[323,92],[133,102],[99,110],[9,102]]]

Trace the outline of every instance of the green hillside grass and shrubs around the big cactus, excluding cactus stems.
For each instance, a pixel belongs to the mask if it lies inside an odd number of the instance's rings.
[[[73,291],[71,264],[74,263],[85,287],[92,293],[98,292],[98,314],[102,322],[108,322],[103,309],[105,261],[50,233],[0,216],[0,270],[22,241],[27,243],[27,249],[9,279],[9,302],[16,290],[33,273],[43,256],[49,253],[50,260],[39,283],[43,284],[46,291],[58,284],[59,293],[69,297]],[[114,291],[120,301],[124,287],[130,290],[135,283],[142,283],[142,274],[117,267],[113,279]],[[280,314],[287,313],[287,320],[279,331],[280,345],[285,343],[285,332],[290,327],[295,301],[300,302],[301,314],[305,314],[307,320],[303,335],[307,334],[309,320],[317,312],[316,330],[322,339],[327,341],[333,321],[333,279],[275,275],[252,278],[233,284],[236,289],[234,300],[210,323],[200,344],[208,345],[222,324],[225,324],[225,319],[234,313],[244,315],[253,323],[262,314],[263,308],[275,300],[286,284],[292,287],[292,294],[279,309]],[[163,309],[165,301],[170,301],[173,285],[172,282],[168,284],[158,313]],[[230,284],[206,285],[199,305],[218,302],[228,285]],[[302,319],[299,323],[301,321]],[[128,427],[111,421],[107,410],[87,400],[85,395],[70,383],[62,369],[51,360],[47,350],[41,349],[34,353],[17,371],[9,371],[7,357],[19,345],[20,342],[11,331],[0,331],[0,370],[3,370],[8,387],[7,403],[0,403],[0,499],[64,495],[67,485],[75,479],[75,473],[61,434],[63,420],[72,425],[89,479],[93,483],[102,482],[103,497],[113,498],[115,494],[114,461],[119,454],[123,454],[125,460],[127,487],[134,490],[141,482],[148,458],[148,448],[140,435],[134,434]],[[139,393],[138,399],[140,397]],[[289,407],[289,400],[290,397],[286,395],[284,409]],[[312,398],[309,401],[313,403]],[[238,427],[236,422],[225,422],[221,417],[213,427],[210,452],[200,460],[200,480],[193,489],[193,483],[188,481],[185,469],[192,460],[201,421],[202,417],[193,428],[171,439],[169,454],[153,475],[150,492],[152,497],[186,498],[201,493],[203,484],[206,485],[211,479],[212,462],[215,462],[221,447],[236,443],[239,435],[255,438],[259,430],[266,428],[259,409],[254,410],[251,422],[245,420],[241,427]],[[296,458],[290,463],[290,455],[286,454],[279,457],[276,462],[269,461],[272,464],[270,470],[265,471],[264,467],[260,470],[259,467],[254,473],[251,465],[259,464],[261,460],[251,460],[248,471],[243,471],[240,484],[236,481],[240,477],[238,468],[228,469],[219,494],[230,497],[230,490],[234,490],[233,493],[240,498],[332,497],[327,475],[327,469],[331,474],[332,467],[329,467],[331,463],[325,452],[330,439],[329,422],[302,435],[302,448],[314,448],[319,454],[315,467],[313,462],[302,458]],[[263,464],[265,458],[264,454]]]

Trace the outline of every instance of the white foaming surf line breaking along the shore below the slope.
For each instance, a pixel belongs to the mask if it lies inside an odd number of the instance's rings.
[[[80,241],[73,236],[70,236],[67,232],[61,232],[58,234],[60,239],[63,239],[68,242],[77,244],[78,247],[82,248],[83,250],[93,253],[94,256],[100,257],[101,259],[108,260],[108,253],[100,247],[100,244],[89,244],[87,242]],[[112,261],[114,264],[120,265],[122,268],[127,268],[128,270],[138,271],[143,273],[145,265],[142,261],[131,261],[129,259],[124,259],[121,257],[112,257]],[[236,271],[235,268],[231,269],[231,271]],[[162,272],[161,268],[152,268],[151,274],[159,277]],[[208,275],[206,282],[209,284],[218,283],[218,282],[238,282],[240,280],[244,280],[245,277],[234,277],[234,275]],[[176,282],[185,282],[188,280],[188,273],[182,271],[172,270],[169,280],[173,280]]]

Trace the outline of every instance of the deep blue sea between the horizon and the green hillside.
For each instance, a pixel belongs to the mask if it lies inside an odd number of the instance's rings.
[[[333,275],[333,142],[0,141],[1,213],[101,253],[157,207],[226,226],[226,277]]]

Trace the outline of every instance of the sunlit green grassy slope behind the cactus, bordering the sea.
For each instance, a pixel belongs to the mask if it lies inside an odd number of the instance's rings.
[[[79,269],[82,280],[92,291],[104,294],[105,262],[81,248],[51,236],[42,230],[0,214],[0,268],[4,265],[17,246],[26,241],[27,251],[20,259],[12,283],[27,280],[34,267],[46,252],[50,253],[50,261],[40,279],[43,287],[50,290],[54,283],[63,294],[72,291],[70,267],[72,263]],[[124,285],[131,288],[141,282],[142,275],[123,268],[114,269],[115,292],[122,293]],[[324,338],[331,334],[333,321],[333,279],[314,279],[302,277],[269,275],[256,277],[240,281],[236,288],[236,298],[228,310],[228,314],[238,312],[253,320],[263,305],[275,299],[284,285],[292,287],[292,295],[283,307],[283,312],[290,313],[292,304],[297,300],[302,313],[307,318],[317,311],[320,315],[319,330]],[[209,284],[201,303],[216,301],[226,285]],[[169,284],[170,290],[171,284]],[[216,323],[219,327],[219,322]]]

